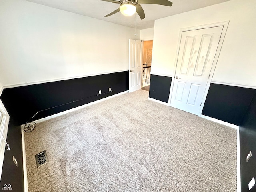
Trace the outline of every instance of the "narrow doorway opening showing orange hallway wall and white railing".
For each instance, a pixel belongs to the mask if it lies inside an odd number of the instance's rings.
[[[149,91],[153,40],[144,41],[141,89]]]

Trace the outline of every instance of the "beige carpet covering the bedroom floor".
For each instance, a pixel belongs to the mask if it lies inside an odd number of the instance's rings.
[[[145,90],[39,123],[25,144],[30,192],[236,191],[236,130]]]

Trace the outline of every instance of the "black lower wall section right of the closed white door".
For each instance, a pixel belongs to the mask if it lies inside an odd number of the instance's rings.
[[[240,126],[255,93],[251,88],[212,83],[202,114]]]

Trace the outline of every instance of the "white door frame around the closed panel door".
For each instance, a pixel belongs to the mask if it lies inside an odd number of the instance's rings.
[[[220,37],[220,41],[216,50],[216,54],[212,63],[212,68],[210,70],[210,76],[208,78],[208,82],[204,91],[204,95],[203,95],[203,99],[202,99],[202,104],[200,106],[200,110],[198,111],[198,116],[201,116],[202,114],[202,110],[204,108],[204,103],[206,100],[206,96],[208,94],[209,88],[210,88],[210,84],[212,82],[212,78],[214,75],[214,70],[216,68],[217,62],[218,62],[218,58],[220,55],[220,51],[222,48],[222,44],[226,35],[226,31],[228,29],[228,24],[229,21],[224,21],[224,22],[218,22],[218,23],[212,23],[212,24],[205,24],[205,25],[200,25],[200,26],[193,26],[193,27],[188,27],[188,28],[182,28],[180,29],[180,34],[179,34],[179,40],[178,40],[178,47],[177,47],[177,51],[176,51],[176,56],[175,56],[175,65],[174,65],[174,75],[172,76],[172,82],[171,82],[171,88],[170,88],[170,94],[169,94],[169,100],[168,100],[168,106],[171,106],[171,99],[172,99],[172,91],[173,91],[173,86],[174,86],[174,77],[176,76],[176,69],[177,69],[177,64],[178,64],[178,54],[180,52],[180,43],[181,43],[181,37],[182,37],[182,32],[185,31],[192,31],[192,30],[198,30],[198,29],[204,29],[204,28],[212,28],[212,27],[219,27],[219,26],[223,26],[223,30],[221,33],[221,37]]]

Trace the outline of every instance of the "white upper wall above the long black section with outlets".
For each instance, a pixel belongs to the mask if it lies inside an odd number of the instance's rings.
[[[0,1],[3,85],[129,69],[134,28],[24,0]]]

